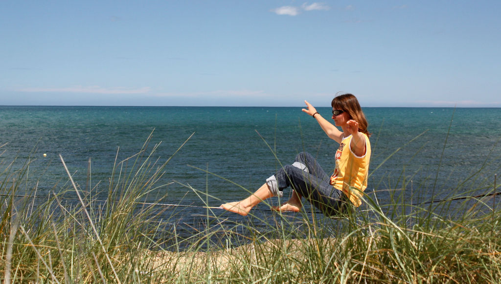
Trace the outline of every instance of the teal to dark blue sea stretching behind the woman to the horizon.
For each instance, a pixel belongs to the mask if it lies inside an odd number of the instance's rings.
[[[169,207],[157,216],[181,237],[189,236],[206,225],[203,206],[246,197],[301,151],[316,156],[326,172],[333,171],[338,144],[301,109],[0,106],[0,170],[29,161],[26,191],[17,194],[33,194],[36,188],[38,196],[48,196],[68,188],[61,156],[80,190],[105,198],[115,162],[134,156],[148,140],[148,151],[156,147],[155,160],[168,163],[158,181],[165,186],[142,201],[193,206]],[[331,117],[330,107],[317,110]],[[382,208],[492,192],[501,173],[501,108],[363,110],[372,133],[366,193]],[[71,190],[65,196],[76,197]],[[212,211],[235,223],[253,219],[266,227],[274,213],[266,204],[256,209],[246,217]],[[304,210],[315,208],[306,204]]]

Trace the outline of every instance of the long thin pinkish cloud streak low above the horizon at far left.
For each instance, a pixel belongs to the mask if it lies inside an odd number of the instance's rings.
[[[147,93],[150,91],[150,87],[141,88],[105,88],[100,86],[73,86],[73,87],[63,87],[63,88],[44,88],[44,87],[34,87],[34,88],[20,88],[18,91],[22,92],[71,92],[71,93],[100,93],[100,94],[120,94],[120,93]]]

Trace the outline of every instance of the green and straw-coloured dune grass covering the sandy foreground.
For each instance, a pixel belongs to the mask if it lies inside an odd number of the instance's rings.
[[[82,188],[72,179],[64,157],[68,182],[43,201],[35,200],[36,187],[27,188],[30,160],[18,168],[18,160],[1,164],[2,281],[476,283],[501,278],[495,195],[413,203],[404,197],[412,185],[407,181],[391,192],[390,204],[379,203],[375,188],[364,195],[364,209],[338,218],[270,212],[267,226],[256,228],[252,219],[259,216],[253,212],[248,222],[231,223],[206,209],[206,229],[179,249],[183,240],[166,227],[169,220],[158,217],[167,208],[142,203],[169,185],[163,182],[170,159],[155,158],[157,146],[148,139],[138,154],[113,164],[106,200],[96,197],[96,188]],[[204,192],[185,186],[204,200]],[[471,192],[491,193],[495,186],[492,179]],[[77,196],[72,202],[63,197],[69,192]]]

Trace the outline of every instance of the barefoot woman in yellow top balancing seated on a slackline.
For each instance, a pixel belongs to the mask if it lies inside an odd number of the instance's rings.
[[[334,173],[327,175],[311,154],[302,152],[293,164],[279,169],[254,194],[240,201],[222,204],[221,208],[247,215],[250,209],[266,198],[282,196],[282,189],[288,186],[293,188],[291,198],[273,209],[298,212],[302,207],[302,197],[326,215],[339,213],[349,203],[360,206],[362,191],[367,187],[371,145],[368,123],[357,98],[347,93],[332,100],[334,125],[308,101],[305,100],[305,103],[308,109],[302,110],[313,116],[327,136],[339,143]]]

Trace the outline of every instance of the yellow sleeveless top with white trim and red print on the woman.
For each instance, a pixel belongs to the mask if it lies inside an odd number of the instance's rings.
[[[352,135],[344,137],[336,151],[336,168],[331,176],[331,184],[343,191],[356,207],[362,204],[360,197],[367,187],[371,144],[369,137],[365,137],[365,155],[357,156],[350,147]],[[352,188],[350,188],[352,187]],[[354,187],[354,188],[353,188]]]

